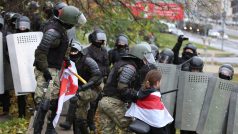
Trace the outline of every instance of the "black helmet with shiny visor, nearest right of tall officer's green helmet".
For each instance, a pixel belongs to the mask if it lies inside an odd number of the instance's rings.
[[[107,36],[105,32],[101,29],[96,29],[89,35],[90,43],[95,43],[97,41],[103,41],[103,43],[106,43],[107,41]]]

